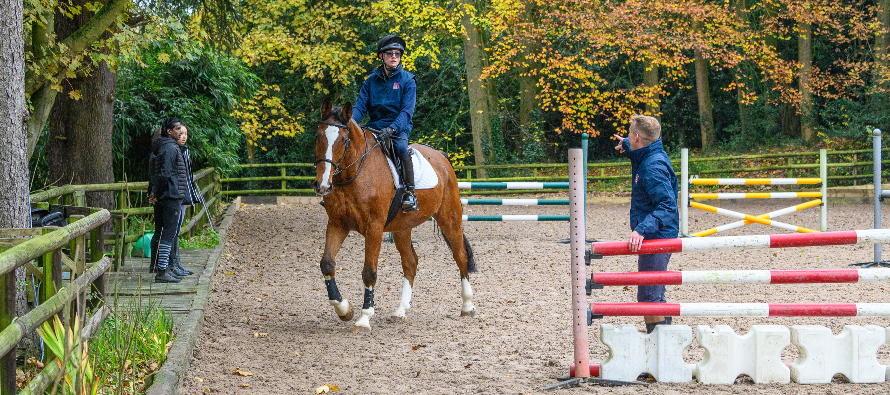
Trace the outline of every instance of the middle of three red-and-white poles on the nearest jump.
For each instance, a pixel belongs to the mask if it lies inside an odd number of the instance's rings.
[[[890,282],[890,269],[606,271],[591,278],[603,286],[878,283]]]

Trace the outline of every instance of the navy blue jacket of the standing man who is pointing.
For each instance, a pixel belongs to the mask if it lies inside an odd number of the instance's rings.
[[[630,193],[630,229],[644,239],[676,238],[680,232],[680,214],[676,206],[674,166],[661,148],[661,139],[641,149],[630,149],[630,141],[621,141],[630,159],[634,189]]]

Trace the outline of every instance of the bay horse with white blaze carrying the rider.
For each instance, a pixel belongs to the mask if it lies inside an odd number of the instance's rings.
[[[411,289],[417,275],[417,253],[411,242],[411,230],[430,217],[438,223],[460,271],[463,299],[460,315],[475,315],[473,288],[470,286],[470,272],[475,271],[475,262],[473,248],[464,236],[463,206],[457,189],[457,175],[444,152],[422,144],[413,144],[411,148],[426,157],[439,177],[439,183],[432,189],[417,189],[419,211],[402,213],[400,208],[392,222],[384,225],[396,189],[384,152],[376,143],[376,136],[352,120],[350,103],[345,103],[343,108],[333,107],[328,98],[321,105],[321,122],[315,138],[316,177],[312,182],[315,193],[323,197],[328,213],[321,274],[328,289],[328,301],[334,306],[337,316],[345,322],[352,320],[353,310],[352,304],[340,295],[336,287],[336,254],[350,230],[358,231],[365,237],[365,267],[361,272],[365,302],[352,332],[368,332],[371,329],[377,259],[384,232],[392,232],[392,240],[401,255],[404,275],[401,302],[392,313],[392,318],[402,322],[408,320],[405,313],[411,307]]]

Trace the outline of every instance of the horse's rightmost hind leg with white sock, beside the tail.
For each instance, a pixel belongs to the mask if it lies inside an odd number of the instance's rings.
[[[460,207],[459,201],[457,207]],[[447,205],[442,205],[447,206]],[[475,271],[475,263],[473,262],[473,248],[467,243],[464,237],[463,218],[461,210],[440,210],[441,214],[436,215],[436,222],[448,245],[451,248],[451,254],[454,261],[457,262],[457,270],[460,270],[460,296],[463,303],[460,306],[461,317],[473,317],[476,315],[476,308],[473,306],[473,286],[470,286],[470,272]]]

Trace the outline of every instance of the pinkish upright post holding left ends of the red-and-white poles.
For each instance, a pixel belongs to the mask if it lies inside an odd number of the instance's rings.
[[[574,377],[590,376],[590,348],[587,339],[587,229],[585,219],[587,207],[587,186],[584,177],[587,173],[587,159],[584,149],[569,149],[569,248],[571,256],[571,321],[572,341],[575,345]]]

